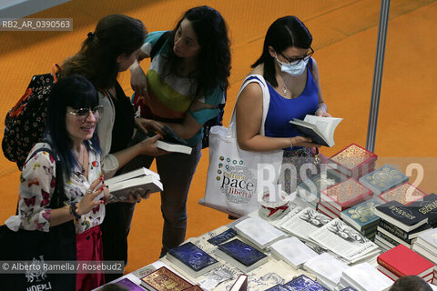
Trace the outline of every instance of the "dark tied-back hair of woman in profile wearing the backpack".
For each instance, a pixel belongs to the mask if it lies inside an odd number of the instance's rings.
[[[117,56],[131,55],[143,43],[146,28],[127,15],[107,15],[100,19],[94,33],[89,33],[80,51],[62,65],[61,76],[80,74],[97,89],[115,85]]]

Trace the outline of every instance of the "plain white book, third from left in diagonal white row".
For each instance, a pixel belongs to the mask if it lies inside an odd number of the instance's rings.
[[[307,261],[303,268],[315,276],[317,281],[333,290],[340,282],[342,272],[349,266],[328,253],[323,253]]]

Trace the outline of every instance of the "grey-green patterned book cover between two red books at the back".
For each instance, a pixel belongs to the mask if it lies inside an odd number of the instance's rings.
[[[371,189],[374,195],[380,195],[395,186],[408,182],[408,176],[391,165],[384,165],[365,176],[361,176],[359,181]]]

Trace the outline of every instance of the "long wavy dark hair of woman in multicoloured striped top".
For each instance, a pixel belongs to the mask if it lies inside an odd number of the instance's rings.
[[[181,58],[175,55],[173,45],[175,34],[180,23],[188,19],[194,32],[198,36],[198,45],[201,50],[198,55],[198,69],[189,77],[197,80],[194,99],[205,95],[220,85],[223,90],[228,89],[230,75],[230,42],[228,27],[219,11],[208,7],[198,6],[189,9],[178,21],[176,28],[168,37],[168,59],[164,67],[165,74],[174,74]]]

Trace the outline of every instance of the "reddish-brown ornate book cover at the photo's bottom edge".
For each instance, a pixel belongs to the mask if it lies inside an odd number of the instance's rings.
[[[190,286],[187,280],[161,266],[158,270],[141,278],[141,285],[153,291],[182,291]]]

